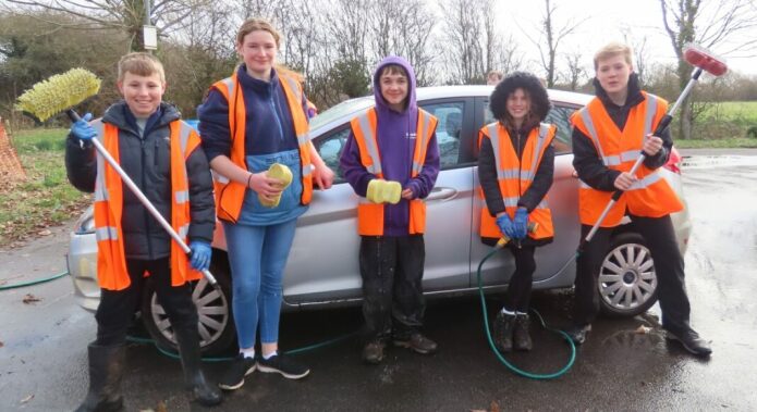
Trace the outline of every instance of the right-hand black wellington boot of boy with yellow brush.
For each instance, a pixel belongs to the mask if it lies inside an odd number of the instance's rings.
[[[215,407],[221,403],[223,400],[221,391],[216,386],[208,385],[200,367],[203,360],[199,354],[197,326],[193,326],[192,329],[183,326],[174,328],[174,336],[184,369],[184,383],[186,389],[192,391],[192,399],[203,407]]]

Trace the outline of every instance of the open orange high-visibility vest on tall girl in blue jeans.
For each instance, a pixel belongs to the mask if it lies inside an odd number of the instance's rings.
[[[286,95],[286,103],[292,114],[294,133],[297,135],[300,147],[300,165],[303,192],[300,197],[302,204],[308,204],[313,197],[313,166],[310,165],[310,137],[307,114],[303,110],[303,90],[300,83],[291,76],[278,73],[279,84]],[[247,125],[247,109],[244,104],[244,95],[236,78],[236,71],[231,77],[216,82],[211,88],[220,91],[229,103],[229,127],[231,128],[231,161],[237,166],[247,170],[245,159],[245,127]],[[236,93],[240,93],[236,96]],[[233,104],[232,102],[236,102]],[[244,184],[232,182],[225,176],[213,172],[213,188],[216,192],[216,214],[219,219],[236,222],[242,212],[244,193],[247,187]]]

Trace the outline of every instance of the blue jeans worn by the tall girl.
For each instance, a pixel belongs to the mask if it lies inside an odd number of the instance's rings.
[[[270,226],[223,222],[232,277],[232,310],[240,348],[253,348],[258,325],[260,342],[279,340],[281,279],[297,220]]]

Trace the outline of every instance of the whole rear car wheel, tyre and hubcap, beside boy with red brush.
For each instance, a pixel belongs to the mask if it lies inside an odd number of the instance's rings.
[[[655,261],[640,235],[622,233],[612,239],[599,270],[597,289],[601,311],[610,316],[635,316],[655,304]]]

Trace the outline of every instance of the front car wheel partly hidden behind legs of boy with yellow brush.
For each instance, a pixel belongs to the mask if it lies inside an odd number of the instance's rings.
[[[236,332],[231,316],[231,276],[227,264],[213,260],[210,272],[216,276],[220,292],[205,277],[192,283],[192,300],[199,315],[198,332],[200,351],[205,355],[224,353],[234,342]],[[142,320],[156,345],[161,349],[176,351],[171,322],[151,282],[147,282],[142,301]]]

